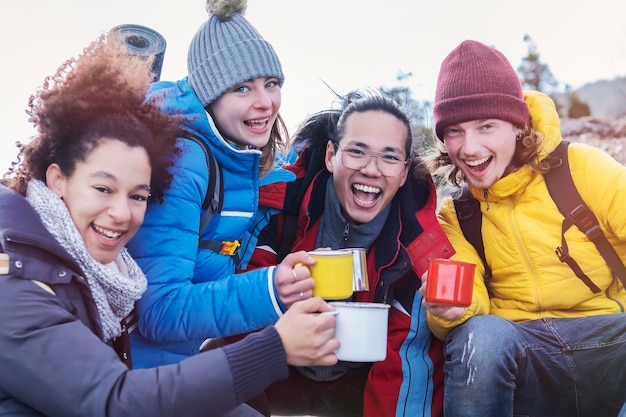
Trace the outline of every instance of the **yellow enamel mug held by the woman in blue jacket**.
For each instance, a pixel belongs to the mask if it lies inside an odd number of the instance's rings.
[[[313,296],[325,300],[343,300],[352,296],[351,251],[314,250],[309,252],[315,259],[311,265],[311,277],[315,281]]]

